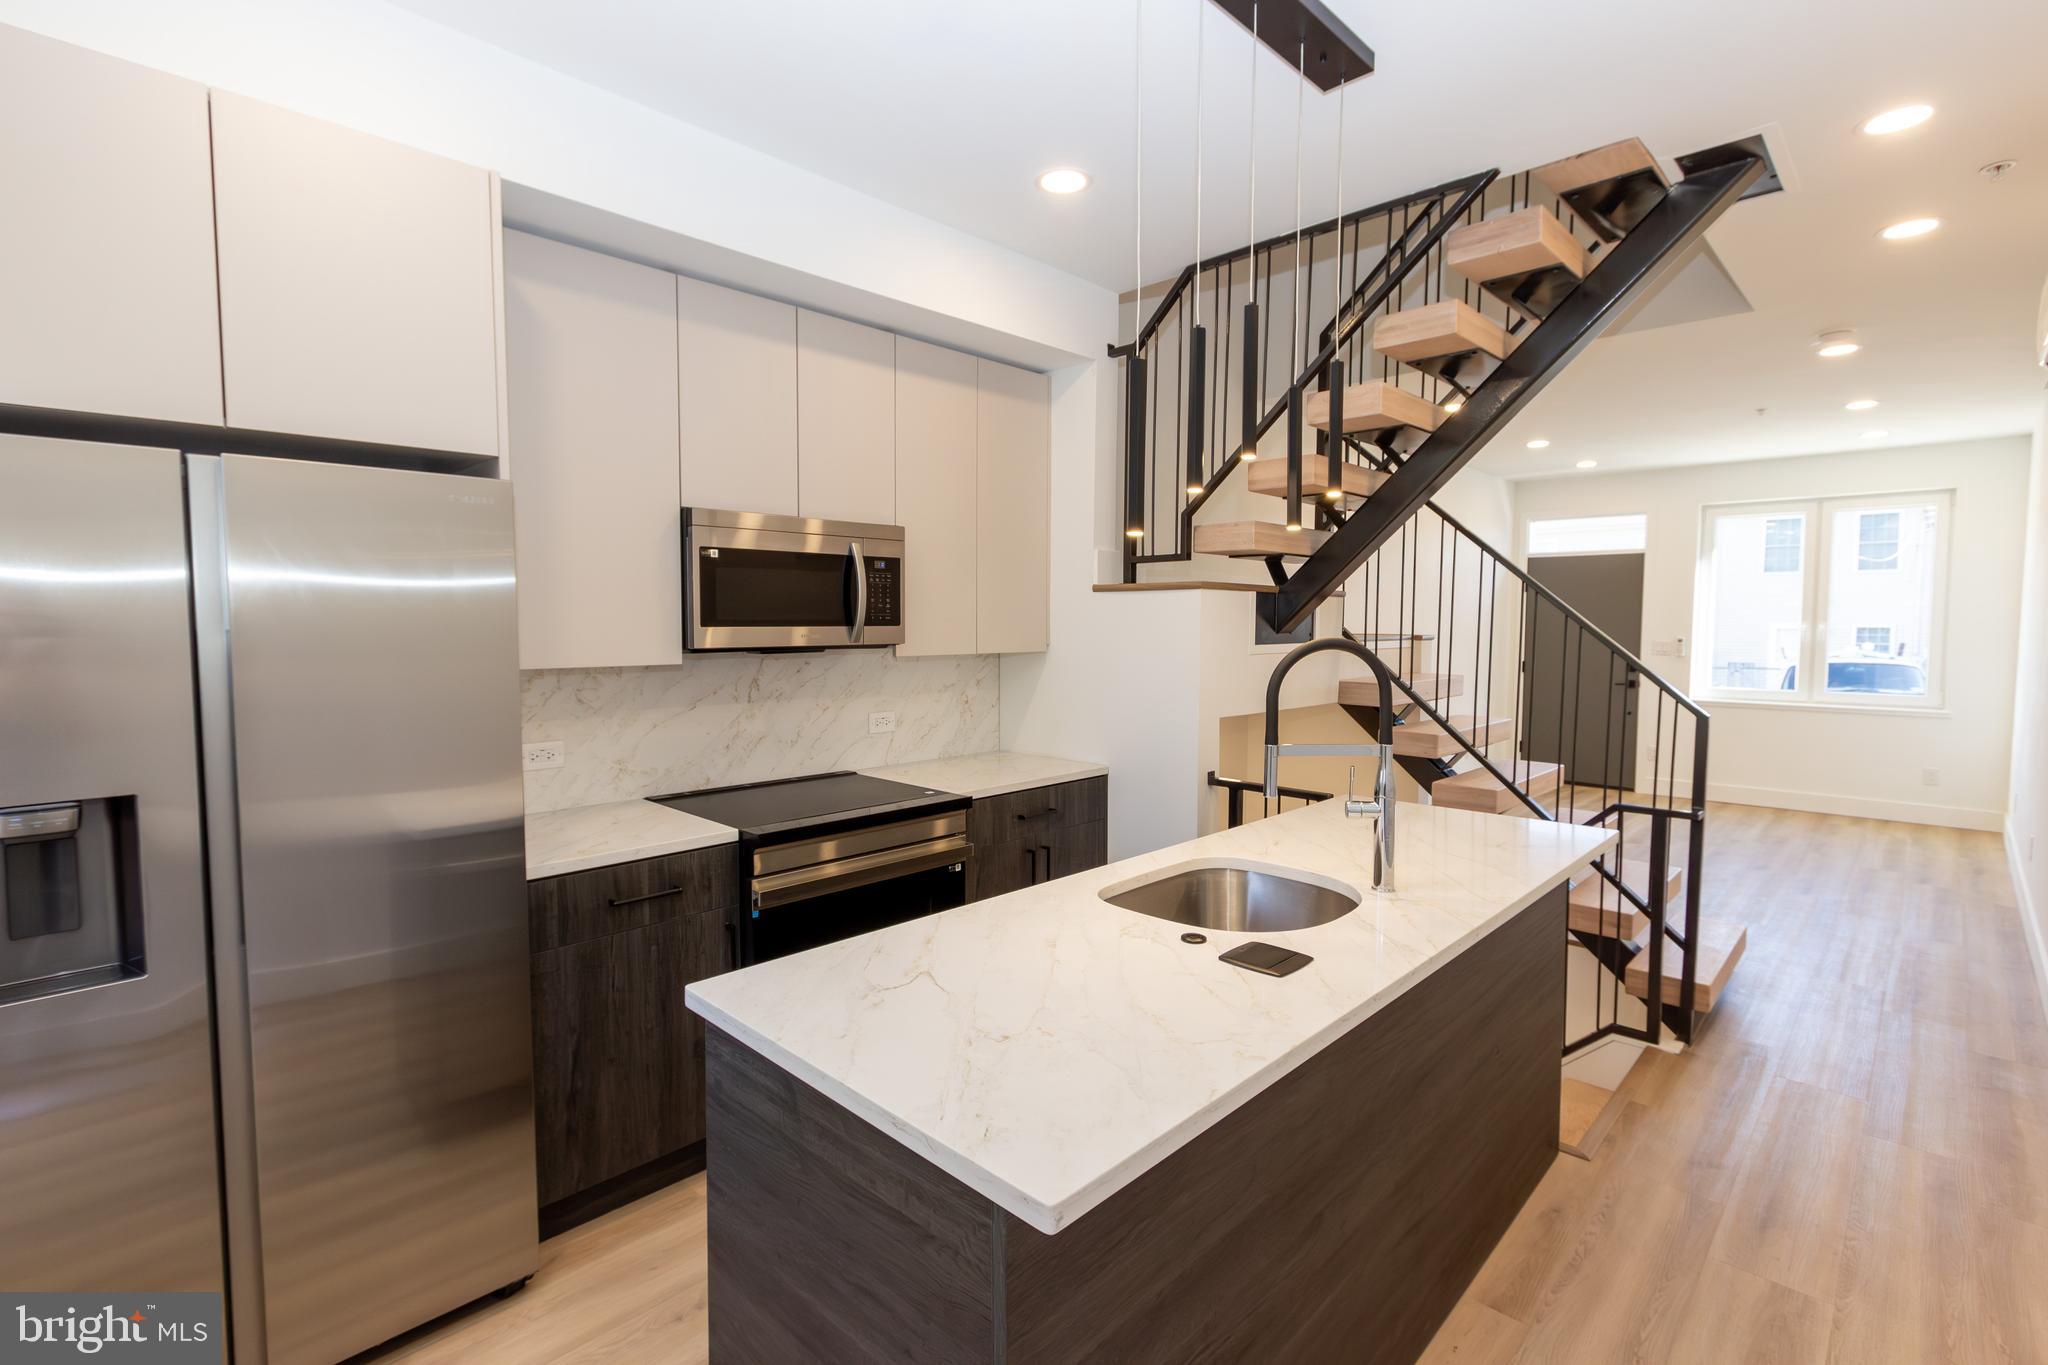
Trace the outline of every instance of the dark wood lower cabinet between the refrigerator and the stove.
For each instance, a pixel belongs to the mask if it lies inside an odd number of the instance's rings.
[[[535,941],[559,943],[532,956],[545,1234],[700,1169],[705,1023],[682,988],[731,966],[733,864],[702,849],[528,890]]]

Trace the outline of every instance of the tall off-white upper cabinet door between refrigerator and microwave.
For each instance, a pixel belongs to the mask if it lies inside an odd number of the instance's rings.
[[[676,276],[506,233],[522,669],[682,661]]]

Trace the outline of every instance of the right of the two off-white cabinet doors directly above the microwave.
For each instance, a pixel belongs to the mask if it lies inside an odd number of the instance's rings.
[[[797,508],[838,522],[895,524],[891,334],[797,313]]]

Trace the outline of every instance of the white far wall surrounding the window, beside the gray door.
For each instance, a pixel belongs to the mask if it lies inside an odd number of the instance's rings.
[[[2028,489],[2023,436],[1513,485],[1516,518],[1649,518],[1642,639],[1694,639],[1700,510],[1710,503],[1954,489],[1946,704],[1927,714],[1706,702],[1708,794],[1792,810],[1999,829],[2005,821]],[[1520,548],[1520,544],[1518,544]],[[1645,661],[1686,686],[1698,653]],[[1923,769],[1939,786],[1923,784]]]

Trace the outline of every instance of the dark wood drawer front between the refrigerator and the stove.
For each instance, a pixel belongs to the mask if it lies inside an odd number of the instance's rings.
[[[737,900],[739,851],[731,843],[551,876],[526,884],[530,950],[657,925],[690,911],[723,911]]]

